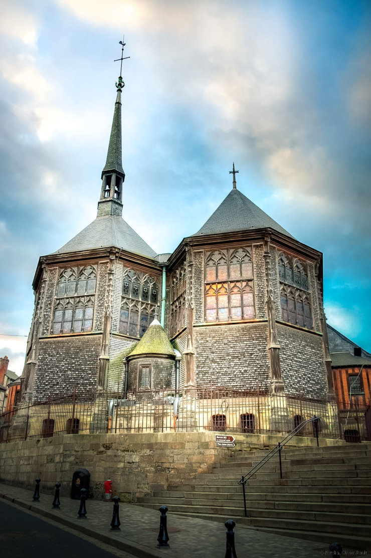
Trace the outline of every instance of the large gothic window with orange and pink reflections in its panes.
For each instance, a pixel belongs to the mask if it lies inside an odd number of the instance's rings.
[[[253,319],[252,277],[252,257],[247,248],[211,252],[205,262],[205,320]]]

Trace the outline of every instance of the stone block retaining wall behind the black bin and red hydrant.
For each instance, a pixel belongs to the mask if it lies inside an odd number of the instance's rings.
[[[112,479],[122,501],[136,502],[168,485],[191,483],[197,473],[239,451],[273,448],[282,436],[234,434],[235,448],[218,448],[215,432],[157,432],[148,434],[70,434],[0,444],[0,482],[32,489],[41,478],[41,492],[52,494],[61,482],[61,496],[69,496],[73,472],[90,472],[90,489],[103,498],[103,483]],[[321,445],[339,440],[321,440]],[[293,445],[315,445],[297,437]],[[228,481],[227,481],[228,482]]]

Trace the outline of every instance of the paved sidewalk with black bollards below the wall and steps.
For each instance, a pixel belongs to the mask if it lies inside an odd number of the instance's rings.
[[[112,502],[88,500],[86,502],[87,518],[78,519],[79,501],[61,497],[60,510],[52,509],[53,497],[40,494],[40,502],[32,502],[31,490],[0,484],[0,497],[18,506],[31,509],[41,516],[54,519],[70,528],[76,529],[102,542],[131,552],[139,558],[224,558],[225,532],[224,522],[206,521],[199,518],[183,517],[167,513],[170,548],[158,549],[157,535],[160,524],[160,512],[142,508],[133,504],[120,505],[121,531],[110,531],[112,519]],[[166,502],[164,502],[166,504]],[[235,550],[238,558],[320,558],[330,556],[329,544],[306,541],[298,538],[273,535],[263,531],[254,531],[239,527],[234,529]],[[19,530],[16,526],[15,531]],[[334,540],[336,536],[334,537]],[[329,541],[334,542],[334,541]],[[343,556],[363,555],[362,551],[346,552]]]

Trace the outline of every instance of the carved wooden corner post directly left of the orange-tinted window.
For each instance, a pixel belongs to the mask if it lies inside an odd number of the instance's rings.
[[[187,312],[187,345],[185,354],[185,389],[191,391],[195,387],[194,372],[194,350],[193,350],[193,260],[192,250],[186,246],[186,266],[187,266],[187,285],[186,285],[186,312]]]

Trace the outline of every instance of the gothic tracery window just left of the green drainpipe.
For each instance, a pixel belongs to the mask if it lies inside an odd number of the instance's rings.
[[[142,337],[155,316],[157,297],[155,278],[124,269],[119,332]]]

